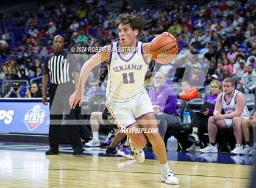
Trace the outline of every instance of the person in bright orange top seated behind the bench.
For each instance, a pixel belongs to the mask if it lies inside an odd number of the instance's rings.
[[[182,82],[182,90],[183,90],[183,92],[181,92],[179,94],[179,96],[180,96],[180,99],[182,99],[183,101],[187,102],[191,99],[200,98],[197,90],[195,88],[191,87],[190,82],[188,82],[188,81]]]

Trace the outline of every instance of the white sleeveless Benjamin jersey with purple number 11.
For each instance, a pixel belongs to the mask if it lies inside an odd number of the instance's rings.
[[[118,50],[119,41],[111,44],[108,62],[107,101],[123,101],[143,92],[148,63],[143,54],[142,42],[136,42],[133,52],[124,55]]]

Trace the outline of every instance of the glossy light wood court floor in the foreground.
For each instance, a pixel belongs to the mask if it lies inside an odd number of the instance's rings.
[[[46,156],[0,150],[1,188],[7,187],[247,187],[252,166],[169,161],[179,185],[160,181],[156,160],[138,164],[102,156]]]

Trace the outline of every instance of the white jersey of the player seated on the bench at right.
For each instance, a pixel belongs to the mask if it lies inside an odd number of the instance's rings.
[[[226,94],[225,93],[221,94],[221,104],[225,114],[235,112],[235,108],[236,108],[235,98],[237,93],[239,93],[238,90],[235,90],[235,92],[233,92],[232,98],[229,103],[226,102]],[[244,110],[241,113],[241,116],[250,117],[250,113],[246,105],[244,106]]]

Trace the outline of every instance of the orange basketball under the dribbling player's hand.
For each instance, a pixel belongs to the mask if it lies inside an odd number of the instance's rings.
[[[172,62],[178,51],[178,44],[172,36],[157,36],[151,41],[152,59],[160,64]]]

